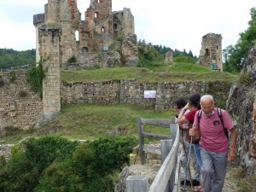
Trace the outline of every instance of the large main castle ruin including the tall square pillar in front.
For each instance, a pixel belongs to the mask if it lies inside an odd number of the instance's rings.
[[[37,61],[47,68],[43,80],[43,113],[40,125],[61,110],[61,68],[75,56],[79,65],[136,67],[137,36],[131,9],[112,11],[112,0],[90,0],[81,13],[77,0],[48,0],[44,14],[33,15]]]

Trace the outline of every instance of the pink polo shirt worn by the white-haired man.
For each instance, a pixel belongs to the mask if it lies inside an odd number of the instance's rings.
[[[225,110],[221,109],[224,127],[227,130],[230,130],[234,127],[231,122],[231,119],[226,113]],[[194,125],[195,130],[199,129],[198,126],[198,112],[195,113]],[[228,150],[229,142],[227,137],[224,134],[224,127],[218,118],[218,111],[217,108],[214,108],[214,114],[210,117],[207,117],[203,112],[201,113],[200,119],[200,131],[201,131],[201,141],[200,146],[206,148],[209,151],[222,153]]]

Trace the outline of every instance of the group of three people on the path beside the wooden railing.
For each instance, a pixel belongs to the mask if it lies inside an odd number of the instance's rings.
[[[200,96],[198,93],[191,94],[189,102],[183,97],[178,98],[173,102],[173,106],[177,112],[176,123],[183,136],[180,161],[183,166],[184,180],[181,184],[192,184],[196,191],[222,191],[227,160],[231,162],[236,158],[237,133],[228,113],[220,109],[222,115],[220,119],[213,97],[211,95]],[[193,125],[191,129],[189,125]],[[230,146],[225,129],[230,131]],[[201,140],[198,143],[186,141],[186,134],[195,137],[198,130],[201,132]],[[191,179],[186,169],[188,157],[195,171]],[[203,183],[201,183],[201,175]]]

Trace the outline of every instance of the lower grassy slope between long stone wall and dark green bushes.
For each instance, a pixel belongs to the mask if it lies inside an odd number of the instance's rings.
[[[1,137],[5,143],[17,143],[22,137],[40,137],[55,133],[69,139],[94,140],[105,136],[113,128],[119,127],[125,134],[137,137],[137,117],[149,119],[170,119],[175,115],[172,109],[156,111],[154,108],[138,108],[131,105],[70,105],[61,108],[61,113],[37,131],[15,132]],[[144,131],[168,135],[169,129],[145,125]],[[15,136],[15,137],[14,137]]]

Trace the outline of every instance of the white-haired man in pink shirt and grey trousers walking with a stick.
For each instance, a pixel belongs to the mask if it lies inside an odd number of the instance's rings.
[[[224,125],[222,125],[213,97],[201,96],[201,120],[198,125],[198,112],[195,113],[195,128],[189,131],[190,136],[195,135],[195,130],[200,129],[200,152],[202,160],[202,177],[204,192],[220,192],[224,186],[227,160],[236,159],[237,133],[228,113],[221,109]],[[224,129],[230,131],[231,146],[225,136]]]

